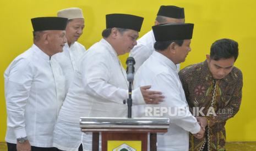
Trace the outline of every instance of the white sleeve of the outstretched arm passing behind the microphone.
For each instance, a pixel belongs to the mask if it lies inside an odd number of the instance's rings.
[[[106,55],[99,54],[97,58],[87,56],[84,61],[81,61],[84,90],[91,96],[122,104],[123,100],[128,98],[128,89],[118,88],[108,83],[112,77],[108,69],[111,67],[111,63]],[[135,104],[137,102],[145,103],[140,89],[133,90],[132,96]]]

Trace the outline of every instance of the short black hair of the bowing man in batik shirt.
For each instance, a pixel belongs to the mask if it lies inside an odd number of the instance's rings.
[[[232,39],[219,39],[211,45],[210,57],[213,60],[229,59],[238,57],[238,43]]]

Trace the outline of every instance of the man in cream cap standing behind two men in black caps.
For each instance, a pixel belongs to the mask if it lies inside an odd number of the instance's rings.
[[[67,43],[63,47],[63,52],[53,56],[66,78],[66,93],[74,78],[74,72],[78,71],[78,61],[86,53],[85,47],[77,42],[84,29],[84,16],[80,8],[67,8],[59,10],[58,17],[68,18],[66,27]]]

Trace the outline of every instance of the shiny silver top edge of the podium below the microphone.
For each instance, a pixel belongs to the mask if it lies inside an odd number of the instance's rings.
[[[168,129],[168,118],[80,118],[82,129],[97,128],[142,128],[142,129]]]

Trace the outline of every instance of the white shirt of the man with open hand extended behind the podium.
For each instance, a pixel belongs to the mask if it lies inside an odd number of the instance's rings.
[[[81,57],[55,127],[54,146],[75,150],[78,142],[91,149],[91,138],[83,138],[80,117],[127,117],[127,74],[116,51],[105,40],[92,45]],[[133,103],[143,104],[140,88],[133,90]],[[63,140],[65,139],[65,140]],[[65,143],[69,142],[69,143]]]

